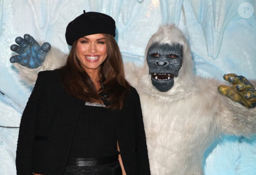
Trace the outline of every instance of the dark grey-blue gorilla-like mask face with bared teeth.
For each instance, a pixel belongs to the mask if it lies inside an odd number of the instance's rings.
[[[174,77],[182,66],[183,46],[178,43],[153,43],[147,52],[147,65],[151,82],[159,91],[169,91],[174,84]]]

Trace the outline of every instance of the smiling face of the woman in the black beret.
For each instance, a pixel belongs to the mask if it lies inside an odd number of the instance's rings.
[[[87,73],[99,72],[102,62],[107,57],[107,46],[104,35],[98,33],[78,39],[76,56]]]

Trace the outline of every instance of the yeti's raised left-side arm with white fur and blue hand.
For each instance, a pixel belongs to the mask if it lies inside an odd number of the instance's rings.
[[[34,85],[38,72],[43,70],[53,70],[65,64],[65,54],[57,48],[51,48],[49,43],[41,46],[29,34],[24,38],[17,37],[16,44],[11,45],[11,51],[16,52],[10,58],[13,66],[19,70],[19,76],[28,85]],[[17,45],[18,44],[18,45]]]

